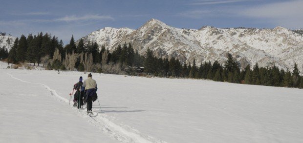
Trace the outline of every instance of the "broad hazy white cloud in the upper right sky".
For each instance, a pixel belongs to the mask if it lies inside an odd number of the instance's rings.
[[[219,0],[206,1],[210,2]],[[250,19],[253,23],[272,24],[273,26],[282,26],[288,29],[299,29],[303,28],[303,0],[271,2],[268,4],[259,4],[259,6],[223,5],[216,8],[183,11],[177,14],[177,16],[192,19],[210,17],[245,18]]]

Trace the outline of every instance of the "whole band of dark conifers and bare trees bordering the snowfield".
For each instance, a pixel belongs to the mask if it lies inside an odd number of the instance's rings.
[[[126,42],[123,45],[119,44],[112,52],[109,52],[105,46],[100,50],[98,47],[96,41],[88,41],[85,44],[83,39],[80,39],[76,45],[73,36],[64,46],[62,40],[58,41],[57,37],[51,37],[48,33],[43,35],[41,32],[34,36],[29,34],[27,38],[22,35],[20,40],[17,38],[7,58],[11,63],[24,61],[34,65],[43,63],[47,69],[56,70],[76,68],[78,71],[137,75],[137,68],[144,67],[145,74],[157,77],[303,88],[303,77],[300,76],[296,63],[292,72],[280,70],[276,66],[259,67],[258,63],[253,68],[247,65],[244,69],[240,69],[238,61],[231,54],[228,54],[227,61],[222,65],[218,61],[213,63],[205,61],[196,65],[195,59],[187,64],[180,63],[175,58],[156,58],[150,49],[146,54],[140,55],[138,51],[134,51],[131,43]]]

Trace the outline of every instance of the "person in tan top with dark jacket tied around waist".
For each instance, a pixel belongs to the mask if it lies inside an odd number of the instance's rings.
[[[92,114],[92,102],[96,101],[96,92],[98,90],[97,83],[92,79],[91,73],[88,74],[87,79],[83,82],[81,91],[86,91],[84,100],[87,102],[87,114]]]

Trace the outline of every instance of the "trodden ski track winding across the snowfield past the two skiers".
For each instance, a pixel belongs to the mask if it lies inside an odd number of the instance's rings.
[[[21,82],[42,85],[43,87],[45,87],[46,90],[50,92],[52,96],[56,97],[59,101],[69,103],[69,100],[57,94],[56,90],[51,89],[49,86],[43,83],[27,82],[18,79],[9,73],[7,73],[7,75]],[[69,106],[72,107],[73,105],[70,104]],[[87,115],[86,110],[79,110],[79,114],[87,118],[87,121],[91,125],[100,128],[103,132],[107,133],[110,137],[122,143],[167,143],[165,141],[161,141],[159,139],[153,138],[149,135],[141,134],[139,131],[131,128],[130,126],[121,125],[121,124],[117,125],[111,122],[110,121],[111,117],[108,117],[106,114],[99,114],[94,112],[94,115],[90,117],[89,115]]]

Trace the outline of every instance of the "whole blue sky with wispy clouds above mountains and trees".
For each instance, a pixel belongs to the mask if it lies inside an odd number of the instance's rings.
[[[104,27],[137,29],[152,18],[177,28],[303,28],[303,0],[0,0],[0,31],[40,31],[66,44]]]

